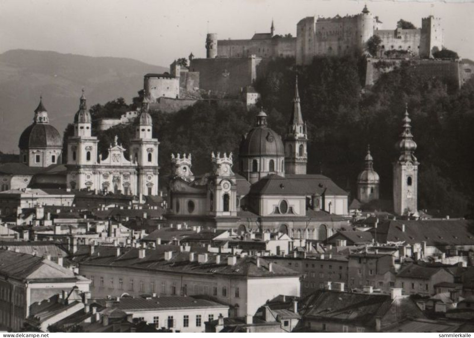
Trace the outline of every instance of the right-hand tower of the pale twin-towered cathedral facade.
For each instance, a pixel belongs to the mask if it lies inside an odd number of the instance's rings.
[[[158,195],[158,140],[152,137],[153,120],[148,99],[137,117],[135,138],[129,142],[130,161],[137,165],[137,195]]]

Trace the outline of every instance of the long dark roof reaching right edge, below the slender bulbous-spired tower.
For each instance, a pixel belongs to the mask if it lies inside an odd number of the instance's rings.
[[[402,225],[405,224],[405,231]],[[415,244],[426,241],[427,245],[474,245],[472,220],[386,221],[379,223],[377,241],[381,243],[404,241]]]

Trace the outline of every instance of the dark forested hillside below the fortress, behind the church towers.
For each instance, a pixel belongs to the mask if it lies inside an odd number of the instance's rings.
[[[295,74],[303,118],[308,124],[308,172],[323,173],[353,193],[370,143],[374,168],[381,178],[381,198],[392,198],[394,144],[401,133],[405,104],[418,144],[419,208],[441,214],[472,213],[474,188],[474,81],[454,90],[436,78],[421,78],[406,65],[383,75],[370,91],[362,90],[364,60],[320,58],[303,69],[290,59],[269,62],[255,84],[262,94],[271,128],[283,134],[294,95]],[[117,105],[92,107],[93,115],[110,116]],[[123,100],[119,105],[127,106]],[[237,153],[242,134],[254,123],[255,109],[199,103],[175,114],[153,112],[154,136],[160,143],[161,178],[169,173],[172,152],[191,152],[192,170],[210,169],[211,151]],[[119,114],[118,114],[119,115]],[[100,134],[105,152],[117,133],[124,145],[133,137],[130,127]]]

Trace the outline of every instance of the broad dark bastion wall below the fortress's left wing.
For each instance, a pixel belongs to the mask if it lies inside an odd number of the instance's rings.
[[[190,71],[199,71],[200,88],[238,95],[252,85],[260,58],[193,59]]]

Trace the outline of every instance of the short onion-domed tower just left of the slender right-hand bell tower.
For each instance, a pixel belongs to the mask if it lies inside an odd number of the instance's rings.
[[[370,154],[370,146],[367,145],[365,155],[365,168],[357,177],[357,199],[361,203],[368,203],[379,198],[380,178],[374,170],[374,159]]]

